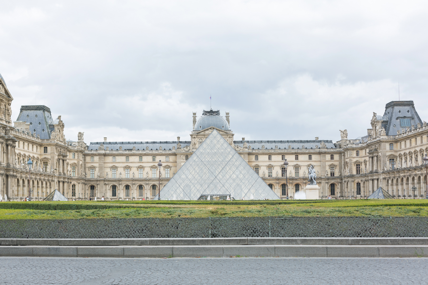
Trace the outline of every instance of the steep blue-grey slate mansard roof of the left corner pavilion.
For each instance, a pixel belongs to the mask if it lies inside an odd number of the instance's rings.
[[[30,123],[30,132],[40,135],[41,139],[51,138],[49,124],[53,123],[53,119],[51,109],[48,107],[44,105],[21,106],[18,119],[16,120]]]

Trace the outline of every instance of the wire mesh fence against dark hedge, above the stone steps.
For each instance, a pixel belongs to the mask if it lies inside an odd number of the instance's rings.
[[[428,237],[427,217],[2,220],[0,238]]]

